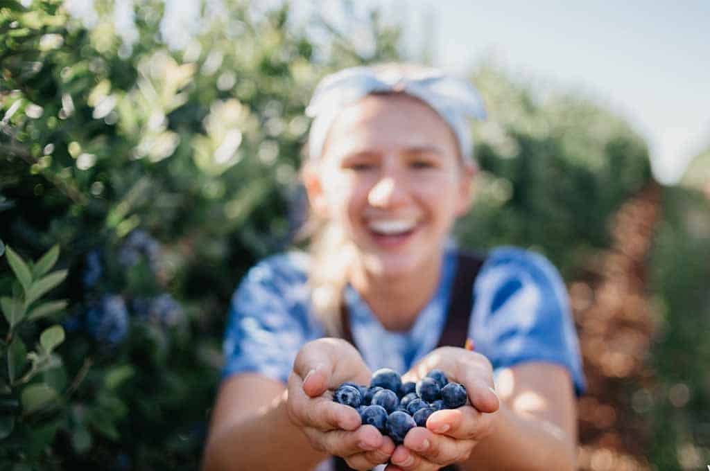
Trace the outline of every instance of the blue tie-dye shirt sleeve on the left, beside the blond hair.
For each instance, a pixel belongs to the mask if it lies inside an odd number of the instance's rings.
[[[288,380],[307,341],[303,289],[305,276],[289,270],[286,255],[268,257],[247,272],[229,305],[222,379],[258,372]]]

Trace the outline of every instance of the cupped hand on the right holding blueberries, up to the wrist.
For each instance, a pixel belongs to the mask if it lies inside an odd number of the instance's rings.
[[[407,433],[403,445],[395,448],[386,471],[429,471],[469,458],[477,443],[493,431],[500,406],[493,392],[491,362],[480,353],[463,348],[442,347],[423,358],[402,380],[417,382],[433,369],[446,373],[449,382],[466,387],[470,404],[458,409],[436,411],[427,426]]]

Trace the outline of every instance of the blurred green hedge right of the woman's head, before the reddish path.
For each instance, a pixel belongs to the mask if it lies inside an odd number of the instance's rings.
[[[488,119],[475,128],[482,171],[461,238],[531,247],[570,277],[608,247],[609,219],[650,182],[648,149],[628,123],[579,94],[533,89],[491,65],[473,80]]]

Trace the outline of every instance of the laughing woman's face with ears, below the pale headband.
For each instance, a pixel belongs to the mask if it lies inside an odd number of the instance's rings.
[[[341,225],[366,270],[381,277],[437,262],[469,208],[472,170],[461,165],[454,134],[403,94],[368,95],[346,107],[313,170],[306,177],[312,209]]]

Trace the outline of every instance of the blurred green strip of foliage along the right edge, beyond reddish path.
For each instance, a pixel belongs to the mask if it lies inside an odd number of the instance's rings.
[[[667,189],[650,285],[660,318],[652,346],[657,384],[644,404],[652,419],[650,460],[661,470],[710,462],[710,200],[698,189]]]

